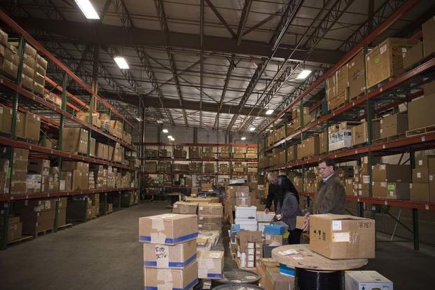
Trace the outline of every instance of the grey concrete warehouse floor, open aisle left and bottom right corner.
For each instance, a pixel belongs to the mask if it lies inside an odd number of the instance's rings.
[[[143,289],[138,218],[165,212],[165,203],[145,202],[0,251],[0,289]],[[394,289],[432,289],[434,248],[378,243],[376,256],[364,269]]]

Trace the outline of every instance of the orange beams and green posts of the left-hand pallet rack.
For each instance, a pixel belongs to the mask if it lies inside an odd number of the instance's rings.
[[[125,117],[113,109],[113,107],[104,101],[102,97],[97,95],[97,92],[92,90],[88,85],[86,85],[80,78],[78,78],[71,70],[69,70],[62,62],[57,60],[46,48],[44,48],[39,42],[32,38],[24,29],[22,29],[19,25],[17,25],[11,18],[8,17],[5,13],[0,11],[0,19],[8,25],[8,27],[13,31],[14,34],[18,35],[16,39],[18,41],[18,56],[19,56],[19,65],[18,65],[18,77],[16,79],[11,79],[6,76],[0,75],[0,100],[5,104],[9,104],[12,106],[13,116],[12,116],[12,126],[11,126],[11,135],[10,136],[1,136],[0,144],[2,146],[8,146],[10,148],[9,152],[9,167],[8,172],[12,172],[13,170],[13,151],[15,148],[27,149],[29,150],[29,155],[32,155],[33,158],[46,158],[55,160],[58,167],[61,167],[63,160],[74,160],[74,161],[83,161],[85,163],[92,163],[97,165],[106,165],[111,167],[116,167],[120,170],[126,170],[129,172],[136,172],[136,168],[132,165],[132,159],[130,159],[129,165],[124,165],[122,163],[114,163],[109,162],[107,160],[102,160],[99,158],[94,158],[90,156],[90,138],[93,137],[96,141],[101,141],[104,144],[115,144],[118,142],[125,151],[130,151],[130,156],[134,152],[137,152],[137,149],[132,144],[127,144],[123,139],[119,139],[118,137],[114,137],[108,132],[103,132],[98,127],[95,127],[92,124],[92,113],[97,111],[97,108],[93,108],[92,104],[94,104],[95,99],[102,104],[102,107],[106,113],[115,117],[117,120],[120,120],[123,123],[123,127],[131,132],[136,131],[133,127],[132,123],[130,123]],[[29,43],[30,46],[36,48],[41,55],[46,57],[50,64],[56,66],[57,71],[60,71],[60,74],[53,74],[55,78],[59,79],[60,83],[56,83],[51,78],[46,76],[46,88],[45,91],[53,94],[53,91],[58,90],[61,93],[61,96],[55,95],[57,99],[62,100],[62,104],[59,107],[54,104],[47,102],[42,97],[34,95],[33,92],[29,90],[25,90],[21,86],[21,71],[23,64],[23,48],[25,43]],[[94,75],[97,77],[97,74]],[[78,87],[85,93],[83,96],[83,92],[81,92],[81,98],[78,95],[73,95],[67,91],[69,81],[76,83]],[[53,94],[54,95],[54,94]],[[88,104],[86,104],[88,102]],[[81,112],[82,110],[89,112],[90,123],[85,123],[83,120],[78,119],[75,115],[77,112]],[[41,118],[41,132],[43,133],[43,145],[48,141],[46,139],[47,133],[53,133],[58,135],[59,143],[57,144],[58,149],[49,149],[46,146],[39,146],[33,144],[27,140],[19,140],[15,135],[15,128],[17,124],[17,116],[18,111],[32,111],[37,116]],[[81,127],[88,130],[88,150],[84,155],[74,154],[62,151],[62,133],[64,127]],[[124,156],[123,156],[124,157]],[[54,192],[43,192],[43,193],[23,193],[23,194],[11,194],[11,178],[9,179],[9,192],[5,195],[0,195],[1,202],[1,218],[3,222],[3,230],[0,233],[0,249],[6,249],[8,244],[8,218],[9,212],[12,205],[12,202],[15,200],[28,200],[34,198],[56,198],[55,202],[55,221],[54,221],[54,232],[57,231],[57,221],[58,221],[58,209],[59,209],[59,200],[60,197],[71,196],[71,195],[92,195],[104,193],[104,212],[106,214],[106,203],[107,203],[107,193],[118,192],[121,193],[123,191],[136,191],[137,187],[131,188],[104,188],[104,189],[91,189],[91,190],[83,190],[83,191],[54,191]],[[86,212],[86,209],[85,209]],[[87,216],[85,214],[85,220],[87,220]]]

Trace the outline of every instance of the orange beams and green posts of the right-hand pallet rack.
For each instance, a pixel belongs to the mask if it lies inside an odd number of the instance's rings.
[[[285,114],[289,112],[294,106],[301,106],[301,109],[308,102],[304,102],[305,99],[310,97],[310,92],[315,88],[322,85],[326,78],[331,76],[337,69],[339,69],[343,64],[346,64],[349,60],[354,57],[361,49],[366,51],[366,46],[375,40],[382,32],[385,31],[389,26],[394,24],[406,11],[415,6],[417,1],[407,1],[403,4],[395,13],[393,13],[389,18],[387,18],[382,25],[377,27],[371,32],[366,38],[364,38],[357,46],[350,50],[345,57],[343,57],[338,64],[326,71],[317,81],[305,90],[301,95],[296,97],[289,106],[286,107],[277,117],[268,123],[265,128],[269,125],[273,125],[274,128],[280,125],[286,125],[286,120],[282,123],[275,123],[279,118],[285,118]],[[417,32],[412,38],[421,39],[422,32]],[[365,58],[365,57],[364,57]],[[410,153],[410,162],[412,167],[414,167],[415,151],[421,151],[426,149],[435,148],[435,132],[427,132],[424,134],[419,134],[417,136],[404,137],[401,139],[396,139],[393,141],[386,141],[382,144],[373,144],[372,139],[372,120],[373,113],[382,113],[388,109],[392,109],[404,102],[410,102],[410,100],[415,97],[422,95],[421,85],[435,79],[435,57],[432,55],[417,64],[417,66],[397,76],[390,81],[382,83],[378,88],[372,88],[371,90],[366,90],[364,95],[360,95],[357,99],[350,101],[349,103],[341,106],[335,111],[326,111],[323,116],[320,116],[316,120],[312,120],[308,124],[303,123],[303,114],[301,114],[301,128],[296,130],[291,134],[288,134],[285,130],[284,139],[275,142],[272,146],[267,147],[265,144],[265,139],[259,138],[258,143],[263,146],[264,151],[262,152],[265,156],[267,151],[274,148],[284,148],[286,149],[289,145],[298,144],[302,139],[306,139],[319,132],[324,132],[328,130],[329,125],[340,123],[343,120],[361,120],[366,118],[368,121],[368,142],[364,146],[358,146],[356,148],[349,148],[339,152],[329,152],[328,146],[326,146],[326,153],[322,156],[316,156],[313,158],[308,158],[305,160],[297,160],[295,162],[285,162],[284,165],[277,165],[272,167],[258,168],[258,172],[264,174],[265,171],[275,171],[275,170],[286,170],[286,169],[301,169],[302,172],[305,171],[306,167],[314,166],[319,162],[321,158],[331,157],[336,158],[337,163],[343,163],[352,160],[358,160],[361,156],[368,156],[369,168],[373,164],[373,156],[389,156],[397,153]],[[314,107],[322,106],[322,101],[317,102]],[[264,130],[264,129],[263,129]],[[370,172],[370,184],[372,181],[372,174]],[[314,196],[314,193],[302,193],[309,204],[310,197]],[[410,208],[413,212],[413,229],[410,230],[413,234],[413,244],[414,249],[419,249],[419,226],[418,226],[418,210],[435,210],[434,202],[416,202],[412,200],[392,200],[387,198],[375,198],[373,197],[372,186],[370,185],[370,196],[347,196],[347,201],[357,202],[357,210],[360,216],[364,215],[364,203],[368,205],[373,205],[370,207],[371,215],[375,217],[375,207],[374,205],[381,206],[391,206],[391,207],[402,207]],[[393,217],[394,218],[394,217]],[[396,219],[398,223],[401,223]],[[401,223],[403,226],[403,223]]]

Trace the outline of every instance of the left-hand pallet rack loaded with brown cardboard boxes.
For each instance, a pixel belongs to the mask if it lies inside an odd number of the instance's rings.
[[[111,212],[113,202],[137,203],[140,163],[133,157],[132,124],[7,15],[0,18],[11,31],[0,32],[0,242],[5,249],[22,234],[36,237],[67,221]],[[50,76],[57,81],[46,74],[48,66],[60,72]]]

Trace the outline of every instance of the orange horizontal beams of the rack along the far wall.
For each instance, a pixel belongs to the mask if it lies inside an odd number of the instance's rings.
[[[172,147],[172,152],[174,152],[174,146],[193,146],[193,147],[201,147],[201,153],[204,151],[204,147],[216,147],[216,150],[219,151],[219,147],[229,147],[230,152],[233,150],[233,148],[257,148],[257,144],[208,144],[208,143],[136,143],[139,146],[143,146],[144,150],[146,149],[146,146],[170,146]],[[258,177],[258,172],[233,172],[233,162],[243,162],[243,163],[257,163],[257,158],[220,158],[219,152],[214,152],[216,157],[215,158],[174,158],[167,157],[167,158],[143,158],[144,161],[172,161],[172,171],[169,173],[169,175],[174,176],[174,174],[184,174],[184,175],[200,175],[201,177],[229,177],[232,179],[233,177]],[[233,153],[230,153],[233,154]],[[204,162],[214,162],[216,166],[216,171],[219,170],[219,163],[220,162],[228,162],[230,163],[230,172],[228,173],[210,173],[210,172],[179,172],[174,171],[174,164],[175,161],[191,161],[191,162],[201,162],[201,167]],[[167,172],[149,172],[149,174],[168,174]],[[161,188],[173,188],[172,186],[161,186]],[[180,188],[179,186],[176,186],[174,188]],[[181,188],[188,188],[188,187],[181,187]]]

